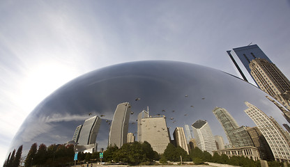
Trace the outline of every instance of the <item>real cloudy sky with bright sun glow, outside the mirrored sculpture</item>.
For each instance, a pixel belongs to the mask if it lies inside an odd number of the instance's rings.
[[[257,44],[290,78],[290,1],[0,1],[0,162],[29,113],[71,79],[130,61],[238,75],[226,51]]]

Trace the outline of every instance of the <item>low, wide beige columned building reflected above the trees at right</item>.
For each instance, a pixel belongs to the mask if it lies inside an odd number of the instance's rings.
[[[213,152],[217,152],[217,154],[222,155],[226,154],[228,157],[232,156],[243,156],[249,159],[253,159],[257,161],[260,159],[259,151],[255,147],[242,147],[242,148],[226,148],[222,150],[215,150]]]

